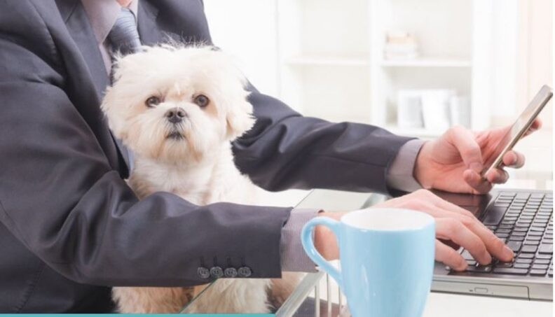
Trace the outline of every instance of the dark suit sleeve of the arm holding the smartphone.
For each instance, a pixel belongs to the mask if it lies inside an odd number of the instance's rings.
[[[238,167],[256,184],[267,190],[388,192],[388,168],[411,138],[371,125],[303,117],[249,89],[256,125],[233,150]]]

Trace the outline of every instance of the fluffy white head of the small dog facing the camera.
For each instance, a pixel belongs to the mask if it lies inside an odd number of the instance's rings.
[[[148,48],[119,58],[114,75],[102,111],[142,157],[201,162],[254,125],[245,78],[224,52]]]

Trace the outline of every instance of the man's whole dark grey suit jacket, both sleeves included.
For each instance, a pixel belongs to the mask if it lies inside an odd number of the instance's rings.
[[[138,14],[147,45],[210,43],[200,0],[142,0]],[[108,84],[80,1],[0,0],[0,312],[109,311],[109,286],[206,283],[201,266],[280,276],[290,209],[139,202],[99,108]],[[252,89],[258,122],[233,151],[256,184],[387,190],[408,139],[304,118]]]

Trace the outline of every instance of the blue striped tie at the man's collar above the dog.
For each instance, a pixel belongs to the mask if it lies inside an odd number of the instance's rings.
[[[137,52],[141,48],[141,39],[137,31],[135,15],[128,8],[121,8],[114,27],[108,34],[108,39],[115,51],[128,55]]]

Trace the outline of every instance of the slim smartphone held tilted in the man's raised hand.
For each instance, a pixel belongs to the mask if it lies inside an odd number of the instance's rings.
[[[486,158],[484,169],[481,172],[483,178],[486,178],[486,174],[488,174],[489,171],[502,167],[505,153],[512,150],[516,142],[526,134],[530,125],[532,125],[537,115],[540,114],[552,96],[553,90],[551,90],[551,87],[548,85],[544,85],[542,89],[537,92],[534,99],[530,101],[530,104],[528,104],[526,109],[519,115],[519,118],[516,119],[511,129],[509,129],[507,134],[505,134],[501,141],[495,146],[495,149],[488,151],[491,155]]]

